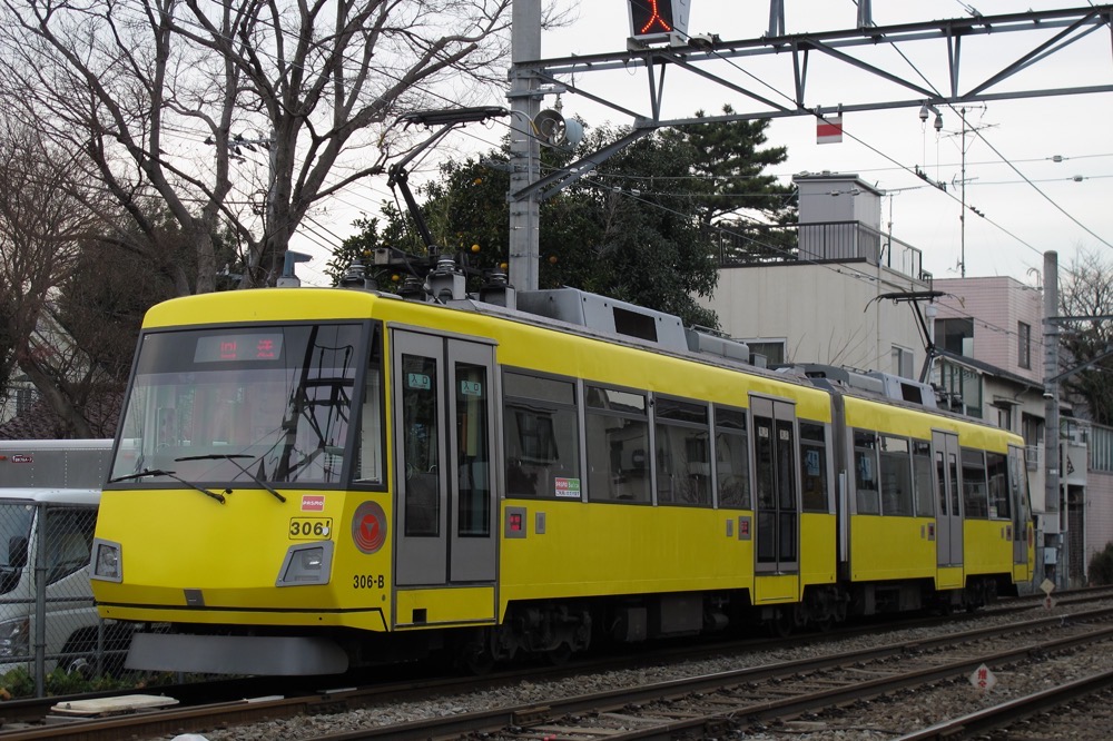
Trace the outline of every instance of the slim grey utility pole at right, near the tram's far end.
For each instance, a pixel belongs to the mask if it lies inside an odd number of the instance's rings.
[[[1066,589],[1066,507],[1060,506],[1058,475],[1058,254],[1044,253],[1044,511],[1048,520],[1058,513],[1055,582]],[[1046,532],[1046,523],[1044,525]],[[1045,561],[1046,562],[1046,561]]]

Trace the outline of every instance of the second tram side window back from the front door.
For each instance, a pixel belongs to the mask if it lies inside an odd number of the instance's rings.
[[[585,392],[588,497],[650,503],[646,395],[598,386],[588,386]]]

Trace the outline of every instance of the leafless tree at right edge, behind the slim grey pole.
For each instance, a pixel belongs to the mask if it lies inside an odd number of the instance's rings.
[[[1063,388],[1085,405],[1090,418],[1113,425],[1113,266],[1095,253],[1081,250],[1060,286],[1060,313],[1080,317],[1063,325],[1060,336],[1063,369],[1092,363],[1063,382]],[[1081,317],[1093,317],[1082,319]]]

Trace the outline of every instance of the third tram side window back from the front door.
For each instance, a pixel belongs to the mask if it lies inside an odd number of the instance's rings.
[[[654,401],[658,504],[711,506],[707,407],[660,396]]]

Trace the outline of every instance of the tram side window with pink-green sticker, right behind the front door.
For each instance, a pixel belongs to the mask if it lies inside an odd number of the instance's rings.
[[[580,498],[580,428],[569,381],[503,374],[506,495]]]

